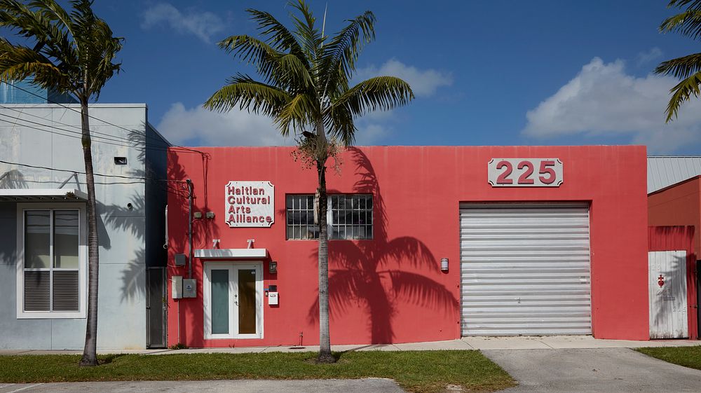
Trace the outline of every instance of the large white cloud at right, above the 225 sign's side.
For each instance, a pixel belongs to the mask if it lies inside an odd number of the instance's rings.
[[[522,133],[540,139],[585,135],[624,135],[646,144],[652,153],[669,153],[701,140],[701,111],[692,99],[679,118],[665,124],[671,76],[648,74],[637,78],[625,73],[621,60],[604,63],[599,57],[582,67],[554,95],[526,113]]]

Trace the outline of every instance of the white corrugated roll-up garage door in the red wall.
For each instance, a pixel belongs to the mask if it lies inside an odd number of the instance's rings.
[[[463,204],[463,336],[591,334],[588,204]]]

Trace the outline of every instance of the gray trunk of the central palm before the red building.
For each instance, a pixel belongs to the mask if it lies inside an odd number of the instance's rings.
[[[329,329],[329,227],[326,222],[328,199],[326,195],[326,159],[328,148],[324,125],[319,122],[317,128],[320,157],[316,160],[316,170],[319,174],[319,363],[334,363],[331,354],[331,333]]]

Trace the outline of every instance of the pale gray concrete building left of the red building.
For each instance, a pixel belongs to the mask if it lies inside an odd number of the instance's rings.
[[[0,348],[79,349],[88,298],[80,106],[1,97]],[[97,347],[162,346],[168,142],[149,124],[145,104],[93,104],[90,116]]]

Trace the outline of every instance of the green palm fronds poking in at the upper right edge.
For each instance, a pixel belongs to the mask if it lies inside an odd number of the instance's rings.
[[[667,7],[683,9],[683,12],[665,19],[660,25],[660,32],[676,32],[690,39],[701,39],[701,0],[670,0]],[[686,7],[686,9],[684,9]],[[660,63],[655,74],[674,75],[682,78],[674,88],[669,90],[672,98],[667,104],[667,123],[679,114],[679,107],[691,96],[701,95],[701,53],[677,57]]]

